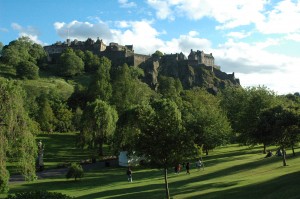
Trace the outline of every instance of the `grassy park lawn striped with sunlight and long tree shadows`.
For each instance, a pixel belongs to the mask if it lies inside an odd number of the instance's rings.
[[[84,157],[69,145],[71,134],[47,136],[47,161]],[[69,140],[68,142],[66,142]],[[299,155],[299,149],[297,153]],[[288,154],[291,152],[288,151]],[[175,175],[169,171],[169,187],[173,198],[298,198],[300,158],[288,157],[283,167],[279,157],[265,159],[261,148],[249,149],[231,145],[218,148],[205,157],[205,170],[191,169]],[[11,184],[11,193],[43,189],[57,191],[81,199],[88,198],[164,198],[163,173],[160,170],[133,168],[133,183],[128,183],[125,168],[106,168],[85,174],[79,182],[67,181],[64,176],[36,182]],[[2,195],[4,196],[4,195]]]

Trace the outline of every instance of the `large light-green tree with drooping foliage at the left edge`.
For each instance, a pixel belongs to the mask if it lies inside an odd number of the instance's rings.
[[[19,165],[26,180],[35,179],[37,126],[24,109],[25,92],[15,81],[0,79],[0,191],[7,190],[8,158]]]

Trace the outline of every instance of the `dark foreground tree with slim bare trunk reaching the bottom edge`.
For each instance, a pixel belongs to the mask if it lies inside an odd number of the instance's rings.
[[[136,108],[140,133],[135,149],[157,168],[163,168],[166,197],[170,198],[167,169],[178,165],[193,151],[194,143],[185,131],[175,102],[155,100]]]

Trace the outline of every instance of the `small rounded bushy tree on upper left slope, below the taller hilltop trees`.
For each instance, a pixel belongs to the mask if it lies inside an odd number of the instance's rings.
[[[39,77],[39,67],[33,62],[21,61],[16,66],[16,73],[23,79],[37,79]]]

